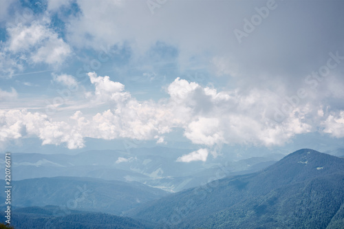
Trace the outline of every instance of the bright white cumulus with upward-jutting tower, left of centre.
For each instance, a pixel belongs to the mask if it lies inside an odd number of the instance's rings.
[[[98,101],[107,102],[113,108],[88,119],[81,112],[76,112],[72,118],[81,132],[90,138],[158,138],[158,142],[163,142],[162,134],[168,133],[173,127],[173,113],[166,105],[132,98],[124,85],[111,81],[109,76],[89,73],[89,78],[95,86],[92,97],[94,104],[98,105]]]

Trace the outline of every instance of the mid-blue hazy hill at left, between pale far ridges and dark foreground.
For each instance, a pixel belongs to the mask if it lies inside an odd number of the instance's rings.
[[[2,180],[1,184],[5,186]],[[107,212],[115,215],[158,199],[166,191],[138,182],[107,181],[89,177],[44,177],[12,182],[12,206],[61,206],[67,210]],[[0,193],[0,206],[6,193]]]

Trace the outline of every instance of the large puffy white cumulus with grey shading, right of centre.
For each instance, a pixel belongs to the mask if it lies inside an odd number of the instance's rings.
[[[177,78],[169,86],[173,110],[181,113],[184,135],[195,144],[283,144],[297,133],[307,133],[308,109],[296,107],[278,123],[273,118],[279,98],[269,91],[248,94],[200,87]]]

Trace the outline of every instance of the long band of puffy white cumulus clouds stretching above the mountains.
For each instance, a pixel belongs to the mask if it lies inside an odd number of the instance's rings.
[[[74,83],[69,76],[54,78],[61,83]],[[294,135],[314,131],[314,124],[305,117],[319,110],[319,107],[294,107],[283,122],[276,122],[274,109],[269,106],[278,105],[279,100],[269,91],[218,92],[176,78],[166,89],[168,99],[138,101],[125,91],[124,85],[109,76],[89,73],[89,78],[95,87],[92,99],[112,104],[111,109],[91,116],[76,111],[65,122],[54,122],[40,113],[1,111],[1,141],[36,135],[43,144],[66,144],[69,149],[83,147],[84,138],[156,139],[163,143],[165,133],[181,128],[186,138],[203,149],[178,161],[205,161],[208,150],[222,144],[281,145]],[[325,132],[341,136],[343,116],[331,117],[327,119]],[[211,154],[215,156],[217,152]]]

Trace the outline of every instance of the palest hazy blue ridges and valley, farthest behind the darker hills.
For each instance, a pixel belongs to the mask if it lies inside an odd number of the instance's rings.
[[[244,160],[218,157],[212,162],[184,163],[176,160],[181,155],[190,153],[189,149],[153,147],[131,149],[130,152],[103,150],[86,151],[77,155],[12,153],[12,179],[93,177],[123,182],[136,181],[178,192],[208,182],[219,166],[226,166],[228,175],[238,175],[259,171],[283,157],[280,154]],[[4,169],[4,158],[0,157],[0,169]]]

